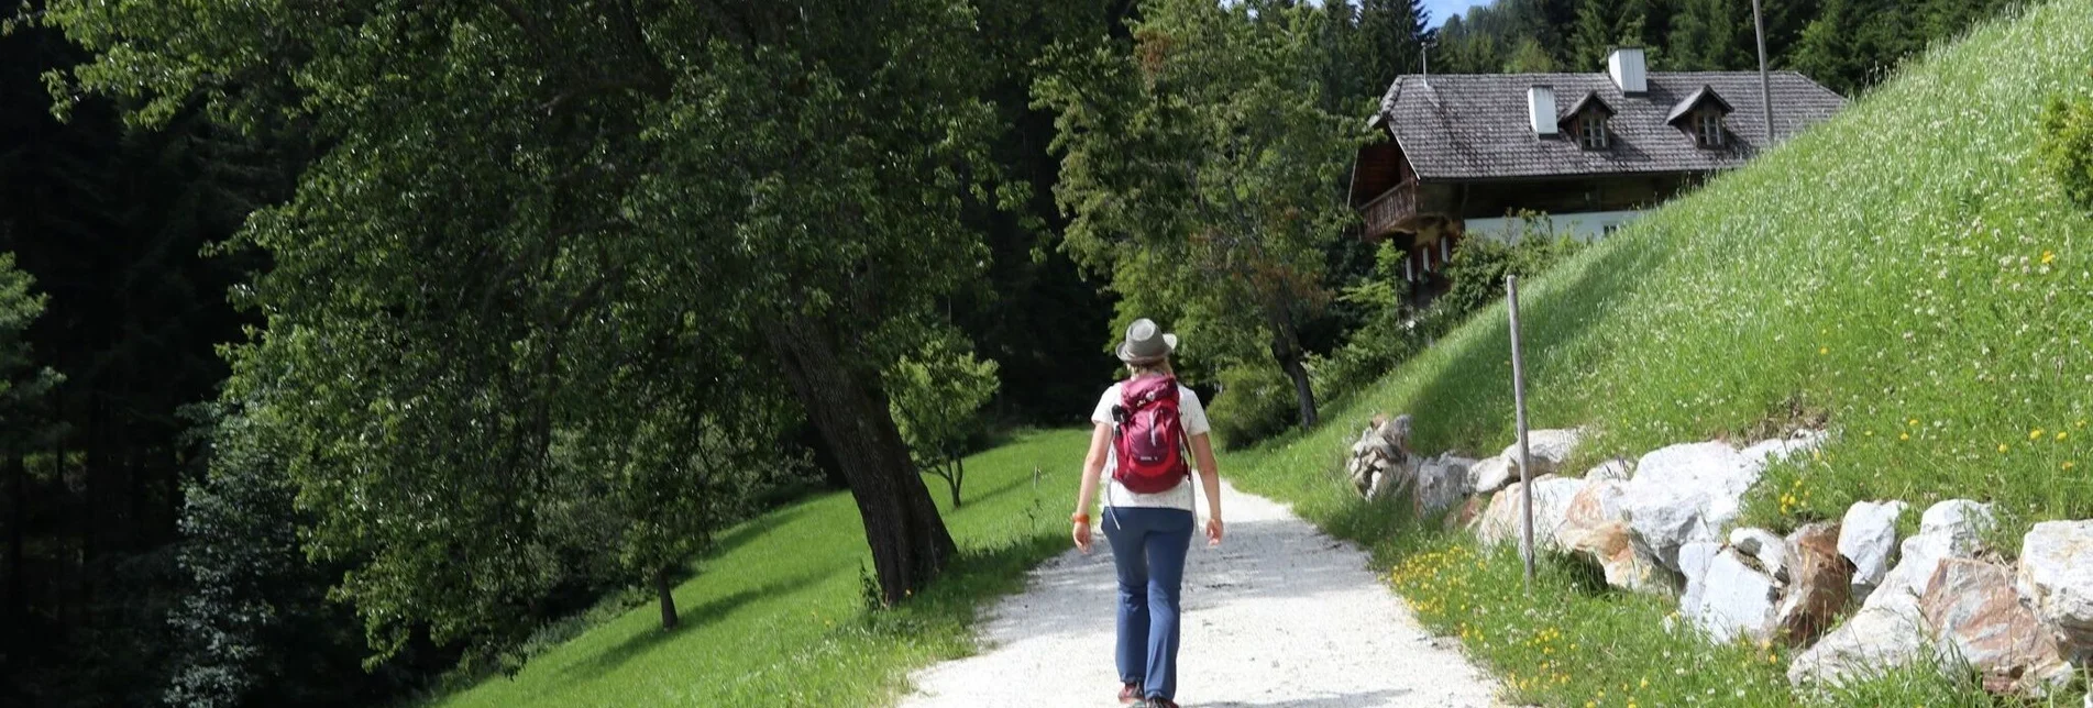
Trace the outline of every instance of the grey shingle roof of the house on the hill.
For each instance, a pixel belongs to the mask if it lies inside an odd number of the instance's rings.
[[[1846,98],[1794,71],[1775,71],[1777,140],[1808,128]],[[1568,134],[1536,136],[1526,115],[1526,90],[1549,86],[1555,96],[1595,94],[1614,109],[1605,149],[1580,149]],[[1666,113],[1700,88],[1735,107],[1723,126],[1723,147],[1704,149],[1666,124]],[[1764,145],[1756,71],[1651,71],[1649,90],[1626,96],[1605,73],[1450,73],[1402,75],[1381,96],[1373,119],[1402,145],[1423,180],[1536,178],[1576,174],[1708,172],[1743,165]]]

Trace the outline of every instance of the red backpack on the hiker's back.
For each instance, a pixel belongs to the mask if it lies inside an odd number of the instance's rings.
[[[1139,377],[1120,383],[1120,404],[1111,408],[1111,478],[1128,492],[1155,494],[1191,478],[1185,461],[1185,423],[1178,421],[1176,377]]]

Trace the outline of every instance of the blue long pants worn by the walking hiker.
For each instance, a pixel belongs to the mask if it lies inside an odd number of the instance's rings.
[[[1105,540],[1120,570],[1120,683],[1176,700],[1178,589],[1193,515],[1185,509],[1105,507]]]

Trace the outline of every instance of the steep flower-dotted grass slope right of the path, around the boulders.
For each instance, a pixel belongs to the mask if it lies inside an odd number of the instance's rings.
[[[2093,0],[2053,0],[1978,27],[1526,283],[1534,425],[1591,425],[1584,461],[1829,425],[1821,457],[1779,465],[1748,499],[1746,522],[1779,530],[1859,499],[1976,496],[1997,503],[1999,547],[2016,553],[2032,522],[2093,517],[2093,218],[2032,161],[2043,98],[2093,84],[2089,17]],[[1463,637],[1520,700],[1796,702],[1785,649],[1668,635],[1668,601],[1603,593],[1557,563],[1530,603],[1515,557],[1346,496],[1340,457],[1371,413],[1417,415],[1421,450],[1494,455],[1511,440],[1503,323],[1501,306],[1478,314],[1325,429],[1226,465],[1243,488],[1369,543],[1419,616]],[[1934,674],[1829,702],[1988,704]]]

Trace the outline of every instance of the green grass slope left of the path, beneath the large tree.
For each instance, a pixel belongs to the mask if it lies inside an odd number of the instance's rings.
[[[437,706],[867,706],[908,670],[973,649],[982,599],[1065,545],[1061,513],[1088,432],[1051,432],[967,459],[965,507],[933,496],[967,557],[925,597],[864,612],[871,553],[850,494],[772,511],[720,538],[676,589],[682,628],[661,633],[653,603],[534,658],[513,679]],[[1044,473],[1034,488],[1034,465]],[[1059,471],[1059,473],[1055,473]]]

